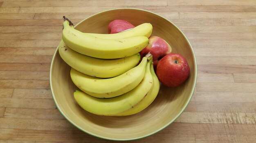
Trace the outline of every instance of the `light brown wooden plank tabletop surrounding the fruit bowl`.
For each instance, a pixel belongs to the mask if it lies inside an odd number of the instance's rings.
[[[155,12],[188,37],[198,62],[189,106],[135,143],[256,142],[256,0],[0,0],[0,143],[111,143],[72,126],[49,87],[62,16]],[[132,142],[132,141],[131,141]]]

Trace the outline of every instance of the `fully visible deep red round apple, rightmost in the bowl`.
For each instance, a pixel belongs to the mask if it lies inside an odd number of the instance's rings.
[[[189,77],[189,64],[180,54],[168,54],[157,63],[157,77],[163,85],[177,87]]]

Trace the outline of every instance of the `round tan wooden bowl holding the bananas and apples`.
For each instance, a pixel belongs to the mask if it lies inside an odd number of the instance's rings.
[[[68,17],[72,21],[72,17]],[[134,140],[154,134],[171,124],[189,104],[195,90],[197,65],[193,48],[188,39],[172,22],[155,13],[141,9],[112,9],[94,14],[75,26],[82,32],[107,33],[108,24],[123,19],[135,26],[142,23],[153,25],[152,35],[162,37],[186,58],[190,76],[182,85],[169,88],[161,85],[155,101],[144,111],[123,117],[99,116],[84,111],[73,97],[77,87],[70,78],[71,67],[56,50],[50,69],[52,96],[58,110],[80,130],[93,136],[110,140]],[[61,39],[60,39],[61,40]]]

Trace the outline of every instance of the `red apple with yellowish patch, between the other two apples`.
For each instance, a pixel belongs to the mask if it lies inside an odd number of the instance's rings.
[[[153,55],[154,67],[156,68],[158,60],[165,55],[170,54],[172,48],[164,39],[157,36],[151,36],[149,37],[148,45],[140,52],[141,57],[144,57],[148,52]]]

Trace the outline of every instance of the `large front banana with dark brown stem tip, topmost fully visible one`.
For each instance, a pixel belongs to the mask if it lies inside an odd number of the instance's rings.
[[[63,22],[62,39],[72,50],[95,58],[124,58],[132,56],[148,45],[148,37],[134,36],[121,39],[97,38],[79,30],[68,20]]]

